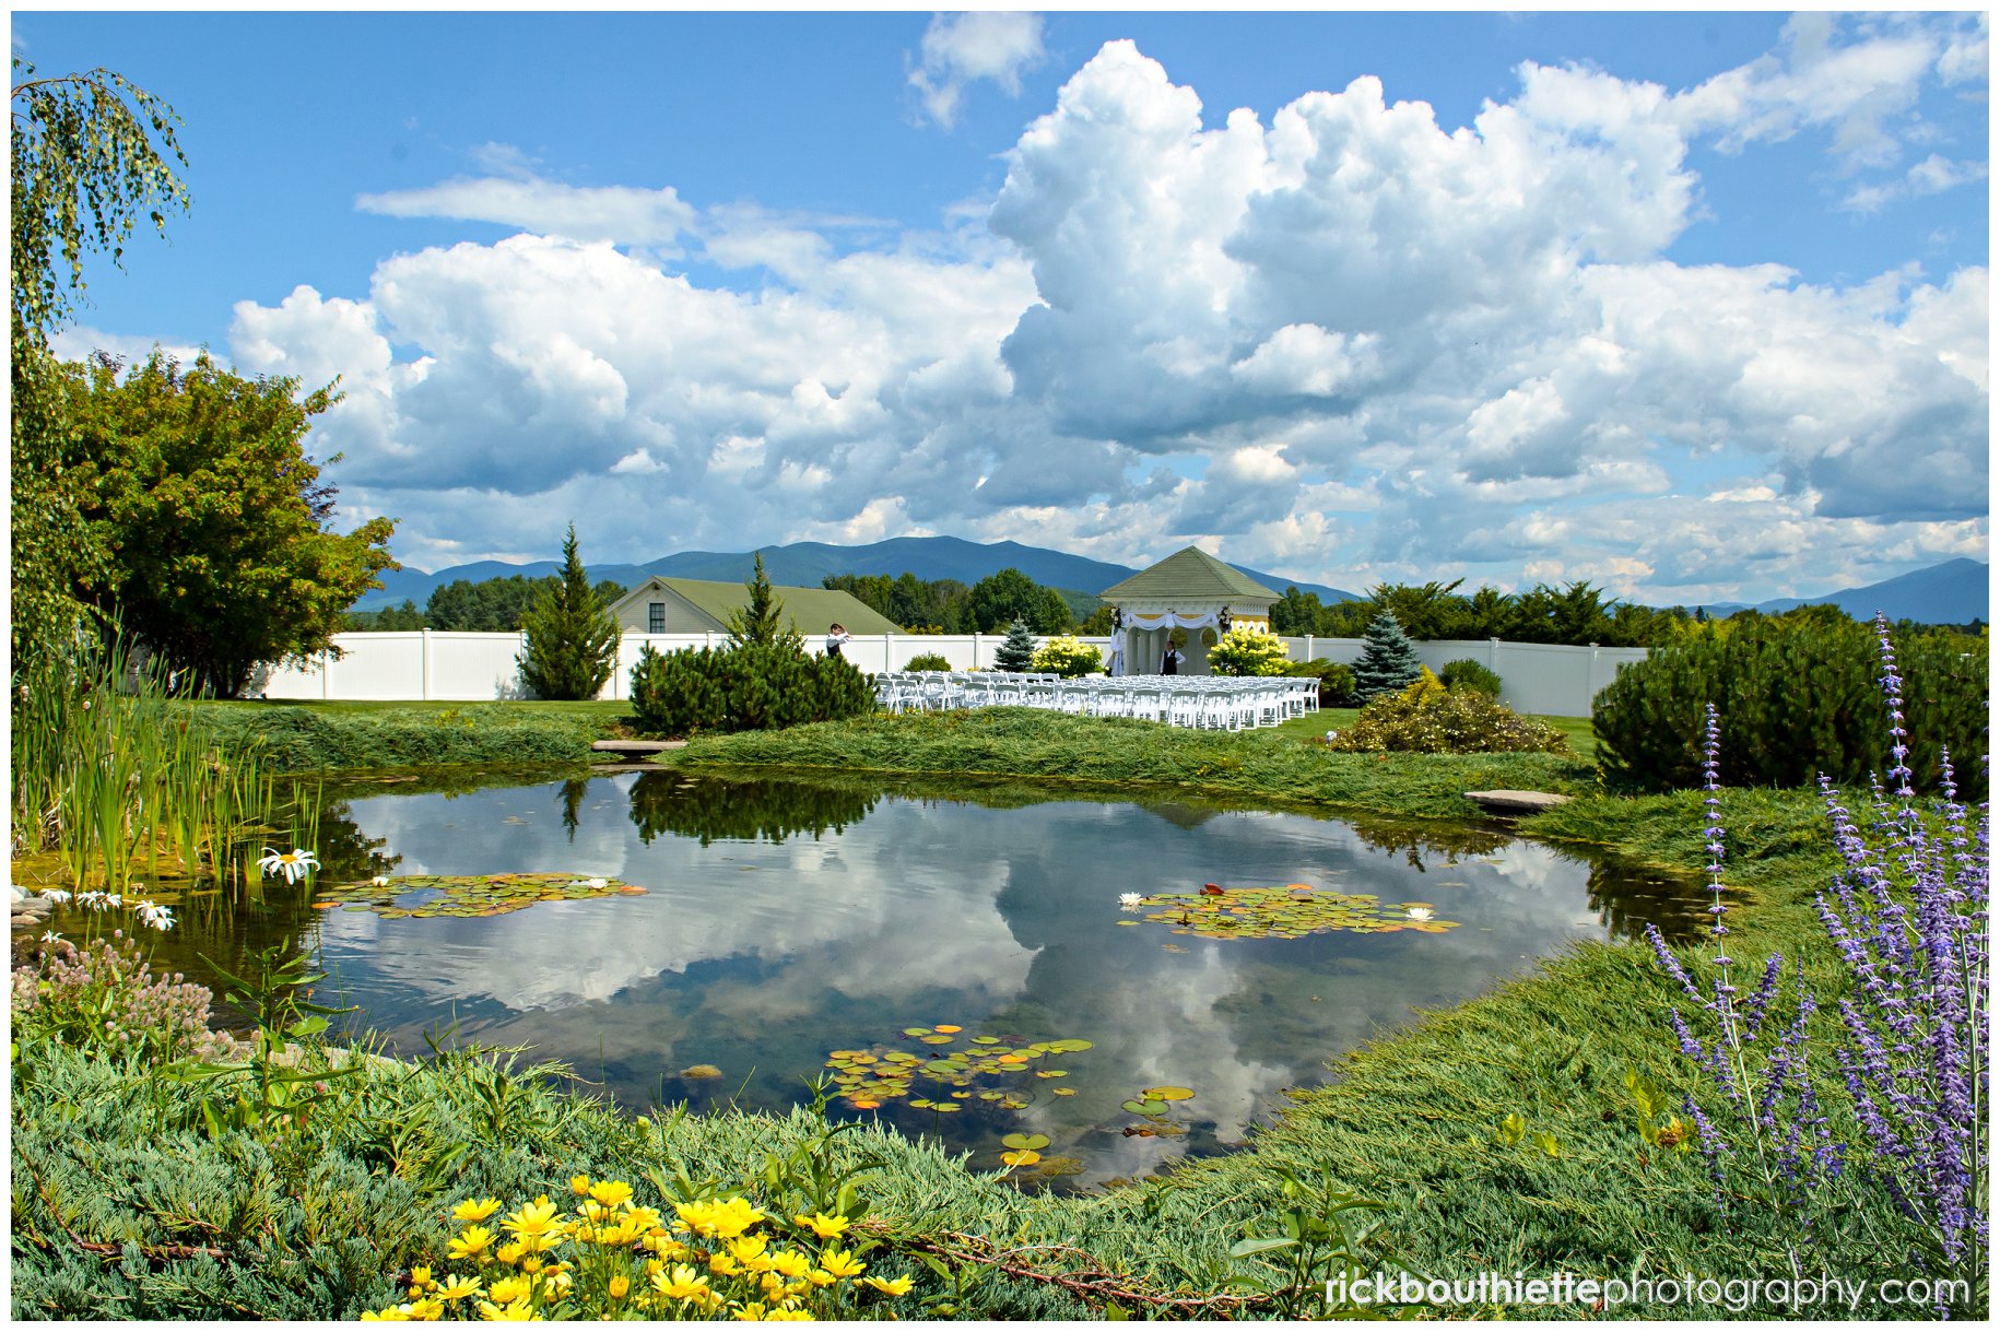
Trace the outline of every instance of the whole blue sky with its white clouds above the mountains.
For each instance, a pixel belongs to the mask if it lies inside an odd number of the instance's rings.
[[[900,534],[1758,600],[1986,558],[1974,14],[14,12],[418,568]],[[1356,82],[1360,80],[1360,82]],[[1422,106],[1418,106],[1422,104]],[[1244,112],[1238,112],[1244,108]]]

